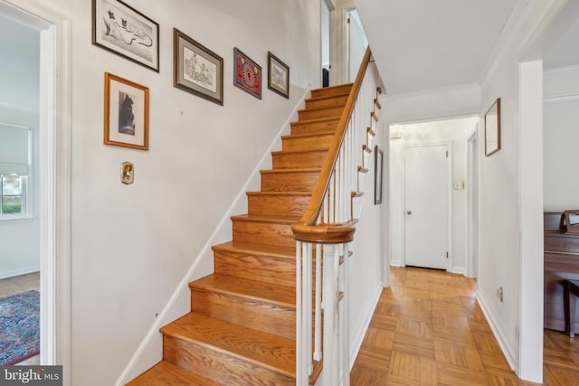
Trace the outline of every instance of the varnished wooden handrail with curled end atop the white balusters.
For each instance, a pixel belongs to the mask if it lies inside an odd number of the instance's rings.
[[[352,117],[352,112],[354,111],[354,105],[356,104],[356,99],[360,88],[362,87],[362,80],[364,80],[365,71],[370,63],[370,57],[372,52],[368,46],[365,50],[364,59],[360,64],[360,69],[356,75],[356,80],[352,85],[350,90],[350,95],[347,97],[346,106],[342,111],[342,115],[337,124],[336,136],[332,141],[329,150],[327,151],[326,161],[322,166],[322,170],[318,176],[318,184],[314,188],[311,195],[311,199],[308,203],[308,208],[304,215],[299,219],[298,222],[291,226],[291,230],[294,233],[296,240],[311,241],[316,240],[321,243],[338,243],[344,242],[341,240],[346,240],[354,237],[354,231],[356,227],[355,221],[347,222],[346,224],[320,224],[322,226],[315,227],[316,221],[318,221],[319,212],[321,211],[322,202],[326,196],[328,184],[330,182],[331,176],[334,173],[334,168],[336,167],[337,157],[340,151],[340,147],[344,142],[344,137],[346,136],[346,128]],[[319,228],[313,231],[312,228]],[[308,236],[308,233],[313,233]],[[340,233],[344,233],[339,235]],[[349,234],[349,236],[347,236]],[[347,242],[347,241],[346,241]]]

